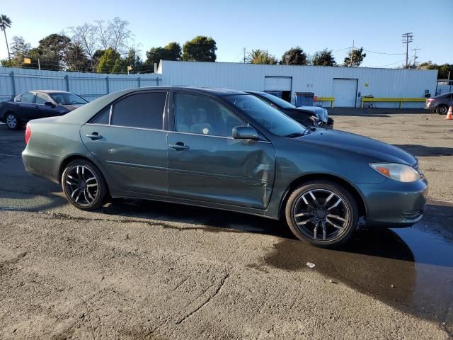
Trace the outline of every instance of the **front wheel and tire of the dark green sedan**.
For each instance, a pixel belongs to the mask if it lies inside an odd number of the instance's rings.
[[[350,192],[338,183],[310,181],[291,193],[285,217],[298,239],[327,248],[348,241],[357,227],[359,209]]]

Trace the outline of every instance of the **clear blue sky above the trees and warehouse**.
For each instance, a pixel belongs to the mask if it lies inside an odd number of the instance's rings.
[[[380,1],[2,1],[0,12],[13,21],[9,41],[22,35],[33,47],[51,33],[69,26],[119,16],[130,22],[136,45],[150,47],[195,35],[217,42],[217,61],[238,62],[243,47],[260,48],[281,57],[299,45],[308,53],[335,51],[337,62],[355,46],[386,53],[404,53],[401,34],[413,32],[410,49],[420,48],[418,62],[453,63],[452,0]],[[410,55],[413,52],[410,50]],[[7,56],[0,36],[0,58]],[[367,52],[363,66],[398,67],[404,55]]]

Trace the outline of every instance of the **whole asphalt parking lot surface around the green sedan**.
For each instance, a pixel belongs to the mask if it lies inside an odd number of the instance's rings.
[[[23,131],[0,125],[0,339],[450,339],[452,121],[331,113],[336,129],[420,159],[422,221],[326,250],[220,210],[113,200],[82,212],[25,173]]]

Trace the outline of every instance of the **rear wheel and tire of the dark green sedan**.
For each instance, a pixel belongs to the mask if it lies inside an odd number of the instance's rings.
[[[75,159],[67,164],[62,174],[62,188],[69,203],[80,210],[101,208],[108,195],[101,171],[85,159]]]

